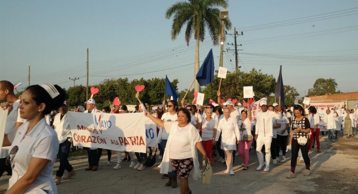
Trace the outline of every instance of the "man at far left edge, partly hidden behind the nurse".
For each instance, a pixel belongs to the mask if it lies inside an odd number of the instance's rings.
[[[9,113],[6,118],[5,125],[5,134],[18,129],[22,123],[26,122],[25,119],[22,119],[19,114],[19,105],[20,99],[14,94],[14,85],[10,81],[0,81],[0,101],[6,101],[12,103],[12,109],[9,110]],[[0,177],[6,171],[8,175],[12,175],[11,166],[5,165],[6,157],[9,155],[9,147],[1,148],[0,155]]]

